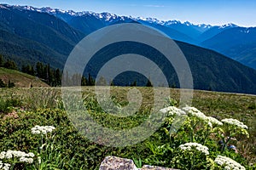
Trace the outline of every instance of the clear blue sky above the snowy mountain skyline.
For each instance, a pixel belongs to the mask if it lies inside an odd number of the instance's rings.
[[[256,26],[255,0],[1,0],[0,3],[188,20],[195,24]]]

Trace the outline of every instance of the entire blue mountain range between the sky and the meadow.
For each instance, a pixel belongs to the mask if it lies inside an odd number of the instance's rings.
[[[245,66],[249,65],[256,69],[255,36],[253,36],[255,31],[254,28],[242,28],[233,24],[193,25],[177,20],[160,21],[108,13],[77,13],[71,10],[2,4],[0,5],[0,54],[15,59],[19,65],[41,61],[62,69],[73,47],[90,32],[104,26],[131,22],[152,26],[177,41],[177,45],[188,59],[195,88],[256,94],[256,71]],[[116,54],[125,54],[133,50],[137,54],[148,55],[149,59],[161,65],[166,71],[169,84],[179,86],[172,65],[166,65],[165,60],[156,58],[155,56],[159,55],[154,50],[143,45],[129,44],[130,48],[122,48],[123,46],[124,44],[116,44],[116,47],[102,49],[85,73],[90,72],[94,76],[103,61],[108,61]],[[143,51],[151,52],[144,54]],[[133,75],[132,78],[139,82],[141,77]],[[124,80],[119,77],[116,81],[117,84],[125,85],[124,83],[134,80]],[[141,82],[141,85],[143,83]]]

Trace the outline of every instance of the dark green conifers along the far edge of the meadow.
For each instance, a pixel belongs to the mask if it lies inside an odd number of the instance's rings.
[[[110,85],[114,86],[114,82],[107,82],[104,77],[100,77],[99,80],[96,82],[96,79],[88,74],[87,77],[84,77],[84,75],[81,74],[73,74],[69,75],[68,72],[65,72],[64,75],[62,75],[62,71],[60,69],[54,69],[50,67],[49,64],[44,64],[42,62],[36,63],[36,65],[21,65],[21,68],[19,69],[16,65],[14,60],[11,59],[3,59],[3,55],[0,54],[0,67],[4,67],[7,69],[12,69],[16,71],[21,71],[26,74],[32,75],[34,77],[40,78],[43,82],[46,82],[51,87],[60,87],[62,86],[105,86]],[[63,81],[62,81],[63,78]],[[2,81],[3,82],[3,81]],[[65,82],[65,84],[61,84],[61,82]],[[1,85],[1,82],[0,82]],[[14,86],[13,83],[9,82],[9,84],[2,83],[3,87],[12,87]],[[127,84],[126,86],[135,87],[137,86],[137,82],[131,82],[131,84]],[[147,84],[145,84],[147,87],[152,87],[151,82],[148,79]]]

